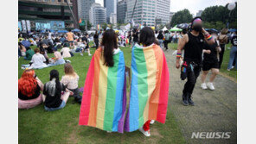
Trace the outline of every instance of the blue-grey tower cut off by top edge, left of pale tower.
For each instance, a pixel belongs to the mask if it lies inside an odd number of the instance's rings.
[[[78,3],[78,17],[79,19],[89,20],[89,10],[95,0],[77,0]]]

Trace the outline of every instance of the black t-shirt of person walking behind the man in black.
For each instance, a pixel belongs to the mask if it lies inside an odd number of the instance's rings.
[[[218,61],[217,58],[217,50],[216,47],[218,47],[217,41],[213,45],[209,45],[207,42],[204,43],[204,48],[206,50],[210,50],[211,53],[203,53],[203,61],[208,61],[208,62],[215,62]]]

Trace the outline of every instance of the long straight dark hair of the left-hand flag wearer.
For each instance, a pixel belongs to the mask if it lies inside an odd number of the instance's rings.
[[[104,65],[109,67],[114,66],[113,49],[118,48],[117,34],[115,34],[115,31],[108,29],[104,32],[101,46],[104,47]]]

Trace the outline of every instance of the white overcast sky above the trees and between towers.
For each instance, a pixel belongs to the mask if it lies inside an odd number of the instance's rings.
[[[189,9],[190,13],[196,15],[198,10],[203,10],[209,6],[226,5],[232,2],[237,2],[237,0],[170,0],[170,11]],[[96,0],[96,3],[103,6],[103,0]]]

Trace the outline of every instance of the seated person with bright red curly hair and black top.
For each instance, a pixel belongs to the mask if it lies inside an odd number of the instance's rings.
[[[34,70],[25,70],[18,80],[18,108],[30,109],[42,103],[43,84]]]

